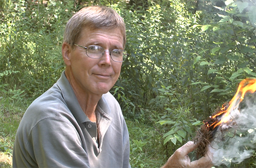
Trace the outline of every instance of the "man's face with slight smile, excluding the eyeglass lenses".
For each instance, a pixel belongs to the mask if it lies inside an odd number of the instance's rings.
[[[123,49],[123,35],[119,29],[85,28],[76,44],[84,47],[101,46],[104,50]],[[92,59],[86,55],[84,48],[74,46],[65,60],[69,70],[71,85],[76,91],[86,94],[104,94],[116,83],[121,70],[121,62],[114,62],[110,54],[105,52],[100,59]]]

